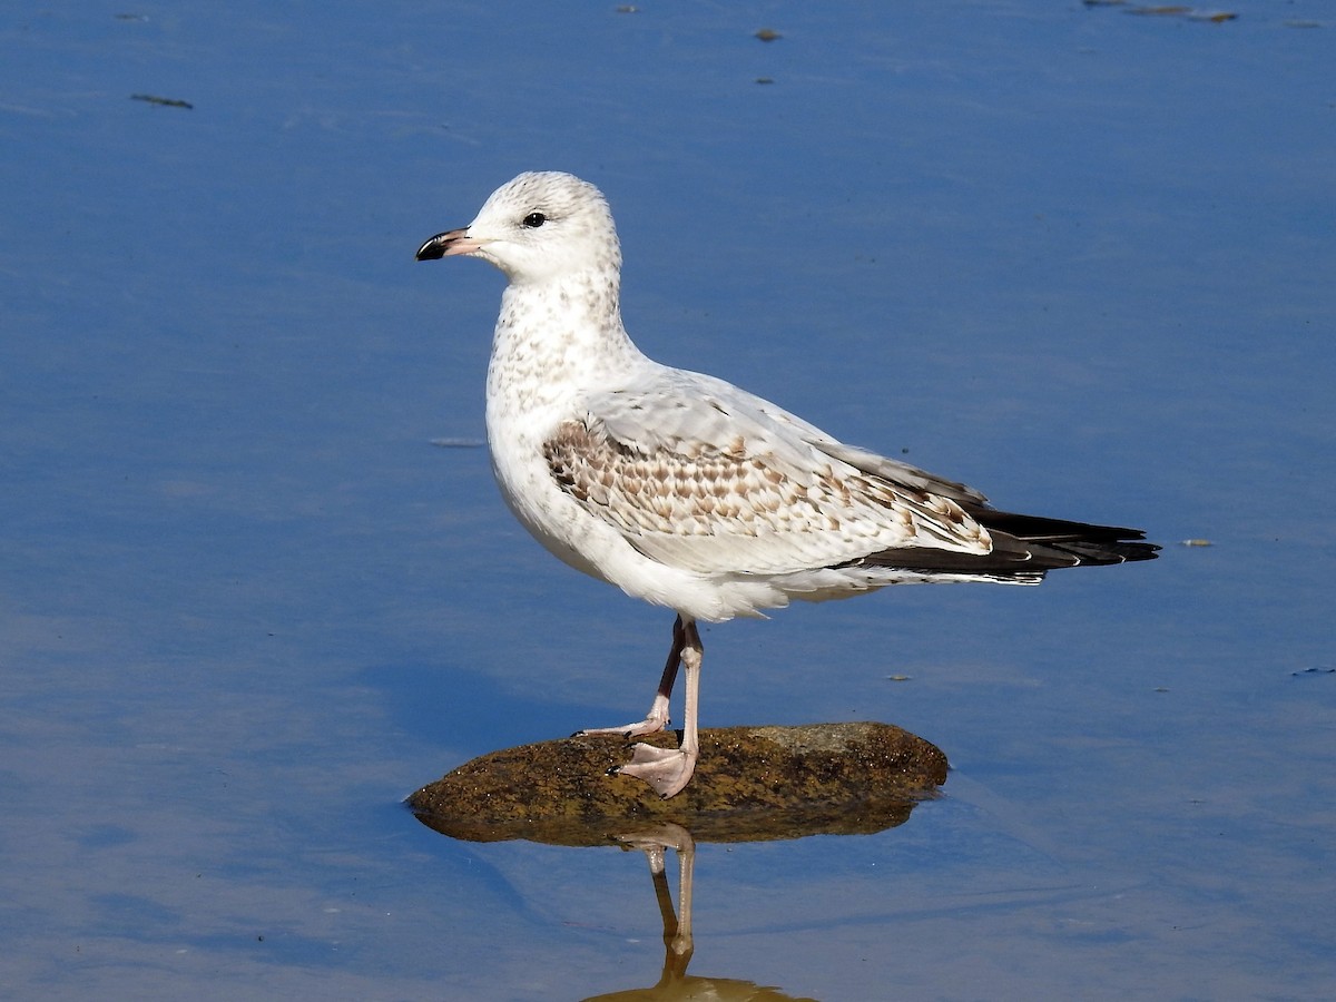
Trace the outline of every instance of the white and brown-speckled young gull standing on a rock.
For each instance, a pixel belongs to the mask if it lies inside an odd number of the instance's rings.
[[[663,798],[696,767],[697,621],[763,616],[887,585],[1038,584],[1054,568],[1149,560],[1137,529],[1010,514],[973,488],[846,445],[712,375],[655,362],[621,323],[621,248],[607,199],[526,172],[418,261],[480,258],[506,279],[488,363],[486,430],[501,496],[554,556],[676,612],[644,720],[664,729],[685,675],[677,748],[644,741],[613,772]]]

